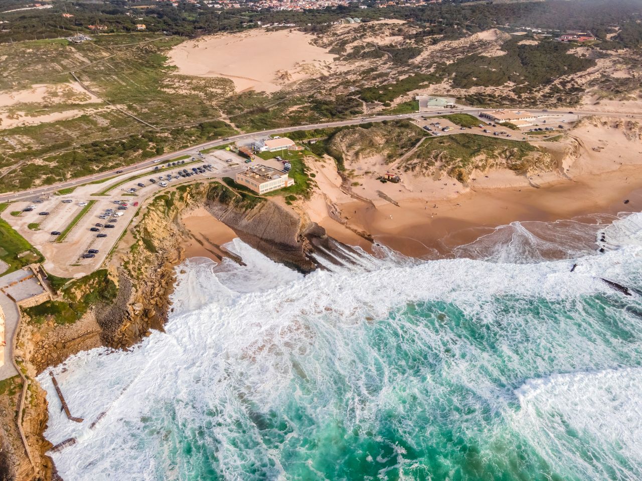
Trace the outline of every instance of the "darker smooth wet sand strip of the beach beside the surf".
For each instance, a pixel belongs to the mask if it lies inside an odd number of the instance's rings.
[[[478,189],[446,200],[407,199],[399,201],[398,207],[352,201],[340,208],[349,226],[370,233],[376,242],[405,255],[430,257],[447,255],[515,221],[552,222],[640,211],[642,175],[639,167],[626,167],[540,189]],[[354,245],[355,234],[331,220],[320,224],[339,241]],[[333,228],[328,229],[329,225]]]

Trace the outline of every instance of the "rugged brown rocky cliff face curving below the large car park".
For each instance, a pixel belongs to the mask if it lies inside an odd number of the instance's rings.
[[[48,421],[47,400],[34,377],[79,351],[99,346],[127,348],[150,335],[150,329],[162,330],[171,308],[168,296],[173,289],[173,269],[184,260],[183,245],[189,242],[180,214],[196,207],[205,207],[268,257],[302,272],[317,267],[312,257],[315,246],[331,249],[324,229],[317,224],[275,201],[239,194],[220,183],[180,186],[154,198],[108,261],[107,278],[117,285],[116,298],[96,303],[66,325],[49,317],[36,322],[24,316],[15,355],[30,382],[22,427],[35,466],[31,467],[17,434],[19,394],[14,393],[0,399],[0,414],[6,414],[9,426],[0,432],[0,444],[7,448],[5,457],[1,456],[5,451],[0,453],[0,475],[20,481],[59,479],[46,455],[51,443],[42,437]],[[75,292],[79,298],[92,289],[88,283],[83,292],[80,285],[74,285],[74,291],[81,291]]]

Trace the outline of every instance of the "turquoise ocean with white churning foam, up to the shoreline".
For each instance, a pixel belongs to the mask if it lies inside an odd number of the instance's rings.
[[[640,480],[642,214],[383,247],[308,276],[180,267],[166,332],[47,372],[78,480]],[[602,236],[605,241],[602,241]],[[598,248],[603,246],[604,253]],[[629,294],[603,282],[629,288]]]

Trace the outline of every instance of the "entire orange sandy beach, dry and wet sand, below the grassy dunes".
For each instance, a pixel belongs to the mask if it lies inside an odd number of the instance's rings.
[[[319,192],[304,208],[342,242],[367,248],[355,232],[368,233],[414,257],[447,255],[514,221],[639,211],[642,157],[631,155],[642,151],[639,128],[621,119],[589,119],[560,142],[541,142],[557,162],[554,171],[525,176],[497,169],[476,173],[468,185],[412,174],[383,184],[372,174],[348,187],[327,159],[311,165]],[[346,165],[356,172],[394,170],[377,155]]]

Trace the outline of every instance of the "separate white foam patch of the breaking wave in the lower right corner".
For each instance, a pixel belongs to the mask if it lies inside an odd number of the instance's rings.
[[[607,479],[612,475],[604,465],[619,471],[613,453],[642,459],[642,368],[553,374],[527,380],[515,394],[521,406],[514,415],[517,428],[550,462],[563,465],[560,457],[566,457],[586,479]],[[577,456],[591,445],[589,457]],[[640,466],[618,473],[621,479],[641,476]]]

